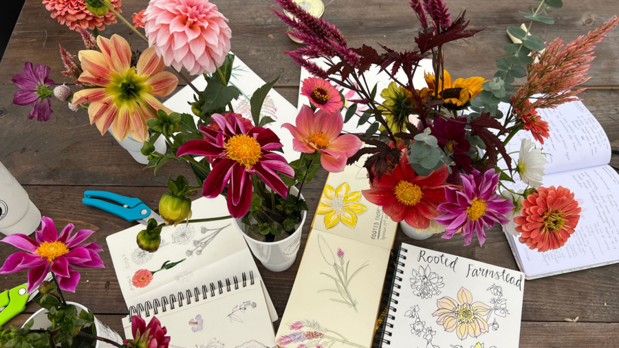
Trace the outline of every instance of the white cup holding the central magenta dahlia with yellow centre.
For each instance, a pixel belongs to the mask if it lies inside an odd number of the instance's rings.
[[[293,186],[289,194],[296,197],[297,193],[298,189]],[[303,195],[301,195],[301,199],[303,199]],[[241,219],[233,220],[235,221],[237,230],[241,232],[241,235],[243,235],[247,241],[252,253],[260,260],[264,267],[272,272],[282,272],[290,268],[294,260],[296,260],[298,248],[301,246],[301,232],[303,230],[303,224],[305,224],[305,217],[307,217],[306,211],[303,212],[301,224],[298,225],[298,228],[296,228],[292,235],[281,241],[273,242],[257,241],[253,239],[246,234],[246,230],[249,229],[249,226],[243,224]]]

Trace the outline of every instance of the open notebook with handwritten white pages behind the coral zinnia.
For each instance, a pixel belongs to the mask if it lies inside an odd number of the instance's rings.
[[[579,101],[538,113],[550,125],[550,138],[544,145],[536,144],[547,153],[543,186],[569,188],[582,211],[576,232],[558,250],[530,250],[506,233],[520,269],[527,279],[534,279],[618,262],[619,175],[608,165],[611,145],[604,129]],[[507,152],[519,151],[523,138],[532,136],[519,132]],[[512,157],[517,160],[517,153]],[[512,188],[521,189],[524,184]]]

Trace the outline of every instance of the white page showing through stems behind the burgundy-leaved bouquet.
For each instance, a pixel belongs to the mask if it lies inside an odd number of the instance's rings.
[[[310,61],[313,63],[316,63],[319,67],[322,67],[325,70],[329,69],[329,65],[327,65],[325,58],[315,58],[315,59],[310,59]],[[415,72],[415,76],[413,76],[413,85],[415,85],[417,89],[422,89],[422,87],[427,86],[426,80],[424,80],[424,72],[426,71],[427,72],[433,71],[431,59],[422,59],[422,61],[420,61],[419,67],[417,67],[417,72]],[[377,67],[376,65],[372,65],[369,68],[369,70],[365,72],[364,75],[366,78],[368,88],[370,90],[373,89],[374,85],[378,83],[378,87],[376,87],[376,91],[377,91],[376,101],[382,102],[384,98],[380,96],[380,92],[383,89],[389,87],[389,83],[393,79],[389,76],[389,74],[387,74],[387,72],[380,72],[380,68]],[[305,80],[305,78],[308,78],[308,77],[313,77],[313,75],[310,74],[310,72],[308,72],[305,68],[302,67],[301,68],[301,84],[299,85],[298,103],[296,105],[298,110],[301,110],[301,107],[303,107],[303,105],[310,105],[310,99],[308,99],[306,96],[301,96],[301,88],[303,87],[303,80]],[[398,74],[395,75],[395,77],[398,78],[398,80],[402,81],[402,83],[404,83],[404,81],[408,81],[406,79],[406,74],[404,74],[404,72],[402,71],[399,71]],[[343,94],[346,100],[354,100],[354,99],[362,98],[361,96],[356,94],[355,91],[351,91],[350,89],[340,87],[339,85],[336,86],[336,88],[338,90],[344,89]],[[347,106],[349,106],[349,104],[347,104]],[[357,105],[357,115],[361,116],[363,111],[365,111],[366,109],[367,109],[367,106],[365,105]],[[346,109],[342,112],[345,113]],[[349,122],[346,122],[344,124],[344,131],[347,131],[349,133],[359,133],[360,130],[365,131],[370,126],[369,123],[358,126],[358,121],[359,121],[359,118],[352,118],[351,120],[349,120]]]

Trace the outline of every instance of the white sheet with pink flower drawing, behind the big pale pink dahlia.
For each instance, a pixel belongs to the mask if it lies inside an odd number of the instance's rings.
[[[195,78],[191,83],[193,83],[199,91],[204,90],[204,87],[206,87],[206,80],[202,75]],[[260,78],[260,76],[243,63],[238,56],[235,56],[230,85],[235,85],[242,93],[237,100],[232,100],[232,107],[235,113],[241,113],[244,117],[252,120],[250,98],[254,91],[264,84],[265,81]],[[173,111],[188,113],[193,116],[191,105],[187,104],[188,101],[193,102],[193,96],[195,96],[193,89],[189,86],[185,86],[166,100],[164,105]],[[294,105],[290,104],[290,102],[275,91],[275,89],[271,89],[262,105],[261,118],[265,116],[275,120],[275,122],[267,124],[266,128],[272,129],[281,140],[284,146],[283,149],[285,150],[285,153],[283,153],[285,159],[288,162],[298,160],[300,153],[292,151],[292,134],[290,131],[281,128],[281,125],[284,123],[294,124],[294,120],[296,120],[296,108]],[[197,120],[197,117],[194,116],[194,118]]]

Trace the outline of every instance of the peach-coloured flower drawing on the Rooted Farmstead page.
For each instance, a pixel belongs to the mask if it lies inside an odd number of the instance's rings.
[[[442,325],[445,331],[456,331],[459,339],[468,336],[479,337],[488,332],[488,315],[491,307],[481,302],[473,302],[473,295],[461,287],[457,300],[444,296],[437,301],[438,309],[432,314],[438,316],[436,323]]]

